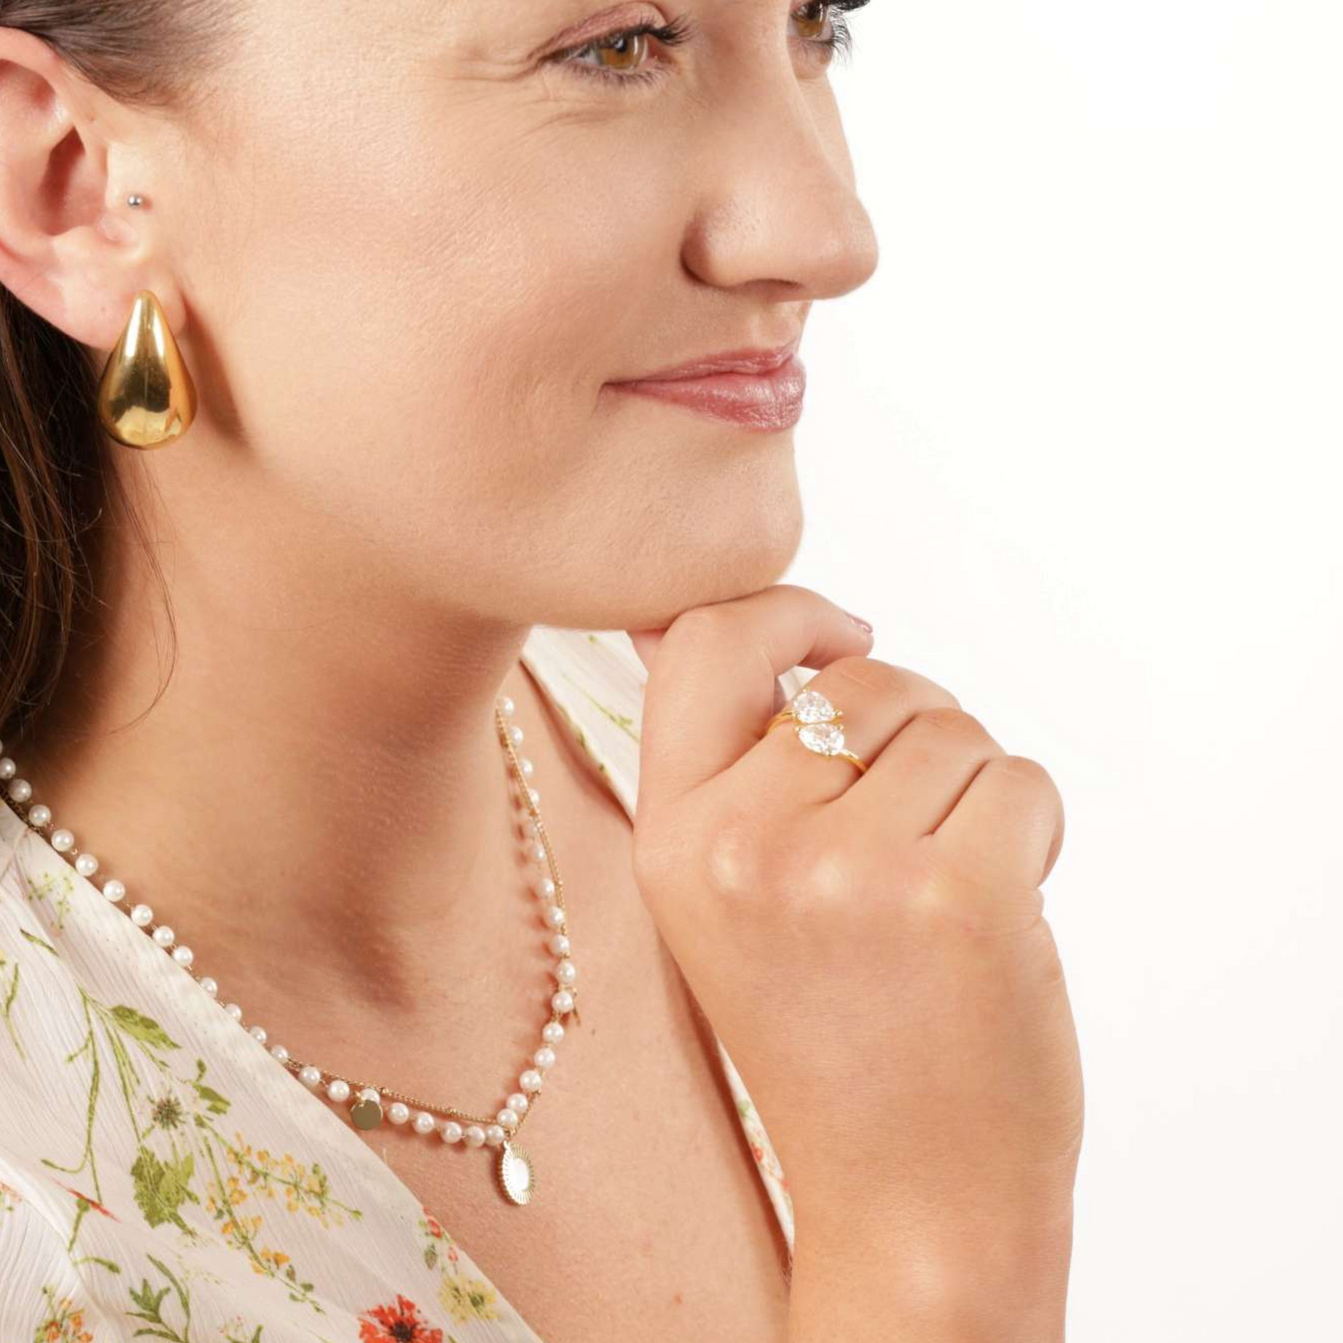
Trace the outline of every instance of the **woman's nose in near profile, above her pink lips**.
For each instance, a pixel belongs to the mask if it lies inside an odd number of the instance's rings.
[[[757,63],[705,107],[686,169],[698,185],[684,263],[723,289],[834,298],[877,269],[877,236],[854,189],[833,90],[791,60]]]

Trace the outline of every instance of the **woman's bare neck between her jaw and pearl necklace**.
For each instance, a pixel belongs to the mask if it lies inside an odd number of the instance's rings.
[[[385,594],[266,588],[243,560],[179,563],[167,690],[158,590],[122,556],[102,623],[5,753],[55,825],[246,994],[404,1014],[445,975],[516,972],[522,854],[494,705],[552,799],[572,771],[518,658],[530,626],[430,615]],[[106,591],[103,591],[106,590]],[[548,825],[555,826],[547,799]],[[530,925],[528,925],[530,927]],[[526,936],[541,940],[540,923]],[[285,1007],[291,1018],[291,1006]],[[328,1022],[332,1019],[326,1018]]]

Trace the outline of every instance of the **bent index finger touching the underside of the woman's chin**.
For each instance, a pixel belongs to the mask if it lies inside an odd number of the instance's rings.
[[[780,673],[870,647],[872,635],[841,607],[790,583],[684,611],[649,669],[637,806],[690,792],[749,751]]]

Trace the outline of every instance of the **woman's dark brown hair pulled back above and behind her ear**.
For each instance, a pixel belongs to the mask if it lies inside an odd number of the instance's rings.
[[[239,19],[236,0],[0,0],[0,28],[40,38],[126,106],[183,115]],[[114,506],[144,541],[107,466],[90,356],[0,286],[0,731],[26,732],[55,693],[94,598],[94,522]]]

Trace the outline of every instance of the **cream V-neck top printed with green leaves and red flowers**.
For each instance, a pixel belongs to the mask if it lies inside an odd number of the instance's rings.
[[[522,661],[633,817],[629,635],[535,626]],[[541,1343],[344,1112],[7,804],[0,1010],[0,1343]]]

